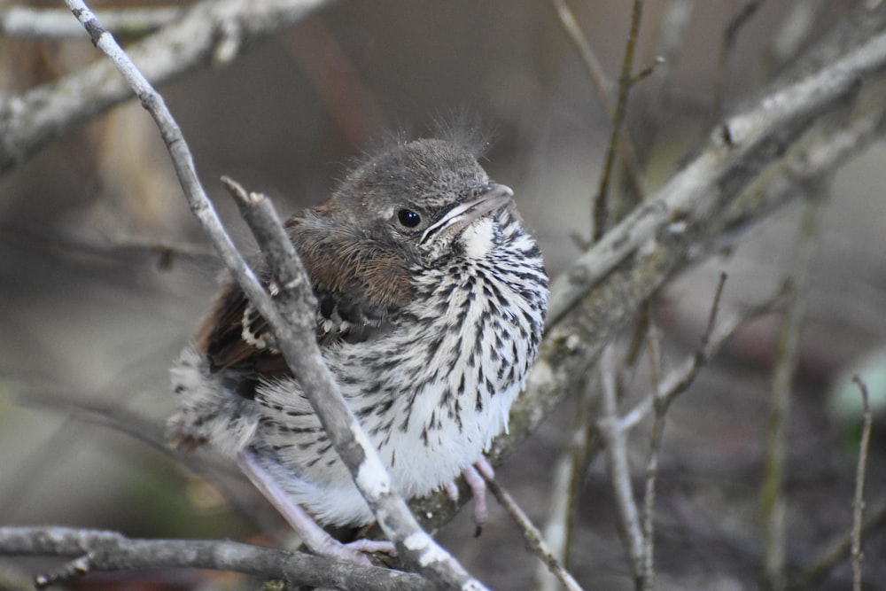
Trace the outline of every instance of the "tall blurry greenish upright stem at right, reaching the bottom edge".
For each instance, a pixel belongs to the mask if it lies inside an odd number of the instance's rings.
[[[775,354],[769,418],[766,424],[766,465],[761,485],[761,503],[764,521],[764,572],[770,589],[783,589],[787,584],[785,571],[785,462],[787,458],[790,392],[800,332],[805,313],[805,292],[812,262],[812,243],[818,202],[807,204],[800,236],[797,241],[797,260],[789,278],[788,307],[781,322],[778,350]]]

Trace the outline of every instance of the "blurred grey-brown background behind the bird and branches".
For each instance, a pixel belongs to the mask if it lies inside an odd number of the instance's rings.
[[[636,86],[629,103],[629,129],[650,192],[704,141],[720,108],[742,105],[777,71],[775,45],[795,4],[804,1],[684,3],[692,11],[679,49]],[[13,4],[58,7],[0,2],[0,8]],[[631,4],[570,3],[612,80]],[[756,12],[722,59],[724,31],[753,4]],[[814,4],[807,43],[863,3]],[[647,3],[635,70],[652,63],[671,5]],[[0,38],[0,92],[24,92],[99,58],[85,35]],[[160,91],[206,190],[244,245],[247,231],[220,175],[267,193],[291,214],[322,199],[349,160],[371,151],[385,133],[423,136],[462,108],[494,128],[483,164],[515,190],[551,276],[590,235],[609,119],[548,2],[331,3],[255,43],[229,66],[191,72]],[[851,526],[858,416],[851,403],[858,393],[837,393],[845,372],[866,363],[874,372],[886,370],[884,158],[886,146],[874,144],[824,188],[789,421],[791,572]],[[721,271],[729,274],[726,305],[753,304],[778,288],[794,261],[802,213],[800,205],[781,210],[664,291],[657,314],[668,362],[696,348]],[[137,103],[98,117],[0,177],[0,524],[260,540],[206,480],[73,410],[116,408],[158,429],[172,408],[167,369],[205,310],[219,271],[153,121]],[[777,318],[742,330],[672,408],[659,477],[658,588],[758,584],[758,499],[777,332]],[[637,376],[632,386],[637,400],[649,383]],[[848,400],[850,408],[834,400]],[[548,513],[551,470],[568,443],[573,408],[566,400],[499,469],[502,485],[538,524]],[[883,419],[881,413],[874,424],[868,466],[872,500],[886,497]],[[638,478],[649,448],[646,429],[632,439]],[[571,570],[587,588],[633,588],[602,458],[581,478]],[[447,548],[494,588],[533,588],[536,560],[503,511],[494,507],[478,539],[466,513],[439,534]],[[867,537],[866,588],[886,579],[883,527]],[[4,564],[27,572],[45,563]],[[239,580],[209,576],[97,575],[81,588]],[[843,563],[813,588],[847,588],[849,576]]]

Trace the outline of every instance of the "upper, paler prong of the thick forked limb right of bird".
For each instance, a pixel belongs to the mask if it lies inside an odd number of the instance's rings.
[[[882,12],[878,11],[881,27]],[[857,88],[859,80],[880,74],[883,67],[886,32],[881,30],[854,46],[843,47],[843,53],[833,62],[777,87],[750,108],[721,122],[696,159],[554,279],[548,326],[559,322],[602,277],[641,245],[664,237],[683,242],[682,237],[704,231],[700,226],[733,202],[763,168],[772,164],[775,153],[784,152],[812,121],[840,105]]]

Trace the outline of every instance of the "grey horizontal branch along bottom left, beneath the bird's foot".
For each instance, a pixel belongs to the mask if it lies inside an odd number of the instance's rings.
[[[0,527],[0,555],[74,558],[58,572],[38,575],[38,587],[88,572],[173,567],[242,572],[311,587],[379,591],[437,588],[416,574],[236,541],[137,540],[115,532],[68,527]]]

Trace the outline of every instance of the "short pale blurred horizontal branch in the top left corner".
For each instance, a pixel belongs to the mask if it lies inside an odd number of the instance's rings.
[[[114,35],[144,35],[180,19],[184,8],[123,8],[96,12]],[[82,39],[87,35],[62,9],[10,6],[0,10],[0,36],[29,39]]]

